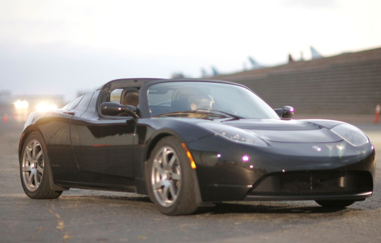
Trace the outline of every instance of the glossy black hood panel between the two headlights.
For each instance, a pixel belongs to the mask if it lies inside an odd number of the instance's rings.
[[[343,140],[327,127],[303,120],[242,119],[222,123],[247,130],[272,142],[332,143]]]

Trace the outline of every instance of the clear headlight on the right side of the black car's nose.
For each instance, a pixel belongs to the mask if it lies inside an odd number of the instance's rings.
[[[337,125],[336,127],[331,128],[331,131],[335,132],[353,146],[360,146],[369,142],[368,137],[362,130],[350,124]]]

